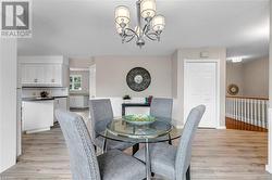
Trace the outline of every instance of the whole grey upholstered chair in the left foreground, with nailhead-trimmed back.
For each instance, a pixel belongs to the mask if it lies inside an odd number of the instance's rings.
[[[139,180],[146,177],[145,164],[119,150],[97,157],[81,116],[64,111],[57,111],[55,115],[69,147],[74,180]]]

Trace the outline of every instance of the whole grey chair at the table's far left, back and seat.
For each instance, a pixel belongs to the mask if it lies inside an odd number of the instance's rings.
[[[109,99],[90,100],[90,116],[91,116],[91,139],[96,146],[102,149],[104,146],[104,138],[96,134],[96,131],[104,131],[106,126],[113,120],[113,112],[111,101]],[[133,146],[132,143],[107,140],[106,150],[125,150]]]

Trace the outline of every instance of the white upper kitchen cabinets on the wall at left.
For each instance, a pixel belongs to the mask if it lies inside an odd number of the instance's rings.
[[[63,56],[20,56],[22,87],[69,87],[69,61]]]

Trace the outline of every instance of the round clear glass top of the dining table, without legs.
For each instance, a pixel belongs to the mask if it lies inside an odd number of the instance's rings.
[[[133,125],[123,118],[116,118],[109,123],[101,123],[106,127],[100,128],[96,133],[111,140],[123,142],[163,142],[177,139],[182,134],[182,129],[173,126],[172,119],[156,118],[149,125]]]

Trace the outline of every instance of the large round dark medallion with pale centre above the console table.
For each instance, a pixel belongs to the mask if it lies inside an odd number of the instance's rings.
[[[127,73],[126,83],[134,91],[144,91],[151,83],[151,76],[147,69],[135,67]]]

